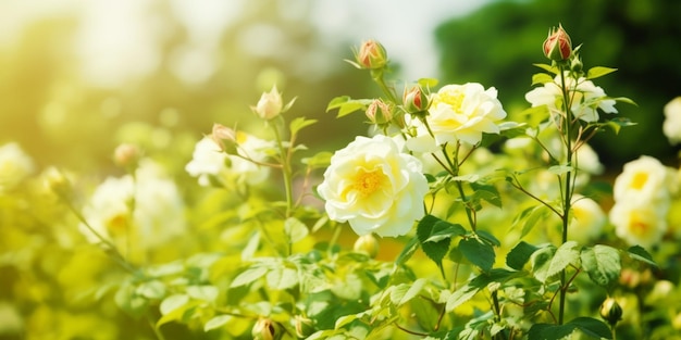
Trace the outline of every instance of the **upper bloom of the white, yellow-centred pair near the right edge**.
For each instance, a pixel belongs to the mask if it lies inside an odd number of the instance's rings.
[[[657,159],[642,155],[624,164],[622,173],[615,178],[612,196],[616,202],[669,201],[670,189],[676,187],[673,169]]]

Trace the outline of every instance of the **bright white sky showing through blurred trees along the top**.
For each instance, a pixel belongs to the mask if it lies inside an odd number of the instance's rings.
[[[153,70],[159,51],[153,41],[165,34],[149,9],[157,0],[0,0],[0,46],[16,38],[25,23],[70,13],[82,15],[75,40],[79,67],[92,83],[116,86]],[[170,0],[187,25],[191,46],[178,58],[176,72],[200,81],[211,72],[210,51],[247,0]],[[313,0],[312,17],[330,38],[373,38],[403,64],[403,77],[434,77],[437,55],[432,32],[444,20],[465,15],[491,0]],[[299,0],[282,0],[288,13],[302,12]]]

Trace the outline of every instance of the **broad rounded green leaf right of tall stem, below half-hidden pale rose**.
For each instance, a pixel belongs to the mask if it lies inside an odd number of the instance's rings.
[[[582,251],[582,267],[592,281],[603,287],[616,282],[622,269],[617,249],[596,244]]]

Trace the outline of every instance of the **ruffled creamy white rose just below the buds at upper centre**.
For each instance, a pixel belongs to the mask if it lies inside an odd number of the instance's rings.
[[[476,144],[482,134],[498,134],[496,122],[506,111],[495,88],[478,83],[447,85],[433,96],[426,122],[437,146],[457,140]]]

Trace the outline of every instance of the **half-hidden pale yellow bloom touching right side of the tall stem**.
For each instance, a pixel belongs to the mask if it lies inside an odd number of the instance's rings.
[[[607,217],[593,199],[575,194],[572,197],[570,236],[582,244],[594,241],[603,232]]]

